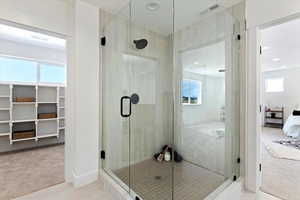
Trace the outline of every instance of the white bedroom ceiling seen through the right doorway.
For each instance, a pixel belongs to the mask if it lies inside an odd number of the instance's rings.
[[[264,29],[261,36],[263,71],[300,67],[300,19]]]

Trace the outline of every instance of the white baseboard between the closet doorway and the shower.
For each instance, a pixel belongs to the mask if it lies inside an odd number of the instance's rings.
[[[73,172],[73,185],[74,187],[78,188],[93,183],[96,180],[98,180],[99,177],[98,174],[99,174],[98,170],[85,173],[82,175],[77,175]]]

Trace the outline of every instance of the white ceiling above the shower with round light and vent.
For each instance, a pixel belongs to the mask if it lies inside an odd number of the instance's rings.
[[[109,12],[120,12],[128,5],[129,0],[85,0],[93,5]],[[222,10],[232,7],[243,0],[131,0],[131,15],[133,21],[139,26],[147,27],[154,32],[169,35],[173,30],[173,2],[175,8],[175,30],[182,29],[199,21],[205,14],[209,13],[209,8],[216,4]],[[155,2],[160,5],[156,11],[149,11],[147,4]],[[127,15],[129,11],[126,10]],[[122,12],[124,14],[124,12]]]

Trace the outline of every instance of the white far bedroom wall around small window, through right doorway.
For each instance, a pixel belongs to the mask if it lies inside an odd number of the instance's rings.
[[[266,106],[284,107],[286,120],[292,111],[300,106],[299,86],[295,83],[300,77],[300,68],[264,72],[262,74],[262,100]],[[284,78],[284,92],[271,92],[265,90],[265,80],[269,78]]]

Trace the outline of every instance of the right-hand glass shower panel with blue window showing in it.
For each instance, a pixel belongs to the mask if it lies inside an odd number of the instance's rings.
[[[239,176],[235,15],[243,6],[226,7],[217,1],[186,5],[175,0],[175,95],[180,101],[175,102],[174,148],[183,157],[174,164],[175,200],[205,199]]]

